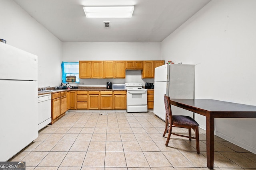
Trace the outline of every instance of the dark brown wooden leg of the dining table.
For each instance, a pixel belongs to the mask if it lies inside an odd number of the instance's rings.
[[[214,117],[206,116],[206,155],[207,167],[213,169],[214,160]]]

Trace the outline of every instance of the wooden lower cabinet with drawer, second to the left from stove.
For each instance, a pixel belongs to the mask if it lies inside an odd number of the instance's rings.
[[[100,109],[113,109],[113,91],[100,91]]]

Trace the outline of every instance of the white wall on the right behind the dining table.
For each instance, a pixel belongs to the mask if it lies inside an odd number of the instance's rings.
[[[256,1],[212,0],[161,43],[166,61],[196,64],[195,98],[256,106]],[[205,128],[205,117],[197,116]],[[256,119],[215,119],[215,133],[256,153]]]

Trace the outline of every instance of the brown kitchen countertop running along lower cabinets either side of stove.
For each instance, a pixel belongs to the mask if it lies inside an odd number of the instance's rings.
[[[53,88],[49,88],[46,91],[38,91],[38,95],[44,95],[44,94],[53,94],[53,93],[59,93],[59,92],[68,92],[68,91],[126,91],[126,89],[107,89],[106,87],[78,87],[78,89],[72,88],[72,89],[59,89],[54,90]],[[154,89],[147,89],[147,90],[154,90]]]

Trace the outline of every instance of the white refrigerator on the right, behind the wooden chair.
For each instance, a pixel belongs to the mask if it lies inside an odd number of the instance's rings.
[[[165,64],[155,68],[154,79],[154,113],[165,120],[164,94],[170,98],[194,98],[194,65]],[[188,115],[193,113],[172,106],[173,115]]]

